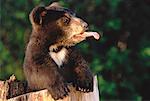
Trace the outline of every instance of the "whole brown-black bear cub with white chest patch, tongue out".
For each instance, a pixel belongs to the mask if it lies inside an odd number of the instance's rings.
[[[27,44],[24,73],[32,90],[47,88],[52,97],[68,95],[68,84],[81,92],[93,91],[93,74],[74,45],[86,37],[87,23],[69,9],[51,4],[35,7],[30,13],[32,33]]]

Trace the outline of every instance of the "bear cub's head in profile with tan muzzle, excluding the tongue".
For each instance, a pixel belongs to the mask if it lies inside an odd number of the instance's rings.
[[[74,40],[76,35],[88,29],[87,23],[76,17],[73,11],[54,3],[35,7],[30,13],[30,21],[35,36],[48,38],[52,44],[70,42],[67,40]]]

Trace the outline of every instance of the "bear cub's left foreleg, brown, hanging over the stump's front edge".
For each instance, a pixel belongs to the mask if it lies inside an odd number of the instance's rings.
[[[63,99],[69,93],[67,82],[56,66],[50,66],[49,68],[47,75],[50,83],[48,83],[47,89],[54,100]]]

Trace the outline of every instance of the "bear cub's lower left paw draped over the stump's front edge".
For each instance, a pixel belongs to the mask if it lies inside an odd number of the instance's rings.
[[[70,92],[67,85],[64,83],[51,86],[49,91],[54,100],[63,99]]]

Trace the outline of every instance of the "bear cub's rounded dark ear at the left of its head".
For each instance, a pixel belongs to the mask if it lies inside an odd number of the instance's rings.
[[[45,9],[45,7],[35,7],[30,13],[30,20],[32,23],[41,25],[46,14],[47,10]]]

